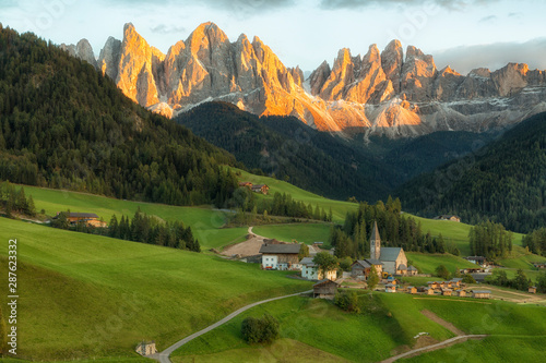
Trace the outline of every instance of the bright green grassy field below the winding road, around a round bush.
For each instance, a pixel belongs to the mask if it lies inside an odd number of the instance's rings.
[[[298,356],[299,349],[318,354],[316,350],[320,349],[349,361],[377,362],[390,356],[391,351],[400,346],[412,344],[413,337],[419,331],[429,331],[438,340],[453,336],[423,318],[418,304],[406,306],[411,300],[396,298],[405,297],[375,294],[372,312],[365,314],[344,313],[329,301],[308,298],[263,304],[183,346],[174,353],[173,361],[210,362],[213,358],[223,361],[224,353],[227,353],[230,362],[256,362],[264,348],[247,344],[240,336],[240,324],[246,316],[262,316],[264,313],[280,320],[283,339],[304,344],[283,344],[283,356]],[[360,299],[369,300],[369,297],[363,294]]]

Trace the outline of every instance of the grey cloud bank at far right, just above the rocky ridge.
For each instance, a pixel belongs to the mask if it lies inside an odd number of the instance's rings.
[[[434,51],[439,69],[450,64],[462,74],[475,68],[498,70],[510,62],[527,63],[530,69],[546,70],[546,37],[525,43],[495,43]]]

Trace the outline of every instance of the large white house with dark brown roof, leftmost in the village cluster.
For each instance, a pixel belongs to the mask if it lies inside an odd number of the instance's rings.
[[[265,242],[260,247],[263,269],[294,269],[299,264],[299,243]]]

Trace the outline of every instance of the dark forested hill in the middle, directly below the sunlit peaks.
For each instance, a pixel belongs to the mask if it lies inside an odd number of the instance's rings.
[[[324,196],[377,201],[396,180],[394,170],[296,118],[258,118],[232,104],[207,102],[176,120],[248,168]]]

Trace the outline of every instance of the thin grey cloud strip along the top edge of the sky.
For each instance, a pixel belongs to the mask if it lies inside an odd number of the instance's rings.
[[[324,10],[355,9],[369,5],[439,5],[449,10],[463,10],[466,7],[484,5],[499,0],[320,0]]]

